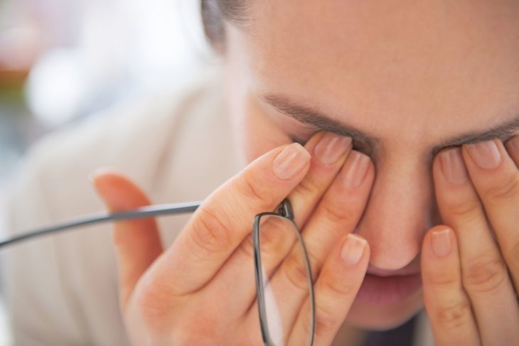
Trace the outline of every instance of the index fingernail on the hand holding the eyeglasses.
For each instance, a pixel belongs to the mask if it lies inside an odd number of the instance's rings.
[[[272,169],[277,178],[289,180],[306,167],[309,161],[309,152],[301,144],[293,143],[274,158]]]

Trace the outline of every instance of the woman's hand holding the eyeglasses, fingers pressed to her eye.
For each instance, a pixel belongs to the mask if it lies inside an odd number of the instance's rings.
[[[309,154],[311,153],[311,155]],[[252,221],[291,201],[314,278],[314,345],[329,345],[348,314],[368,267],[369,249],[353,235],[368,200],[375,169],[351,150],[351,139],[314,135],[303,148],[274,148],[212,193],[176,241],[163,249],[154,220],[117,222],[119,300],[134,345],[262,345],[256,303]],[[107,208],[149,204],[124,176],[93,175]],[[283,301],[287,345],[304,345],[309,303],[294,261],[270,278],[291,292]]]

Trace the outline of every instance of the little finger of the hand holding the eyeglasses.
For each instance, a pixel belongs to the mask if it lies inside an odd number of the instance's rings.
[[[348,234],[331,252],[315,284],[314,345],[331,345],[348,315],[368,269],[368,242],[356,234]],[[310,304],[310,298],[304,303]],[[301,311],[309,311],[303,308]],[[310,333],[310,315],[301,313],[291,330],[287,345],[306,345]]]

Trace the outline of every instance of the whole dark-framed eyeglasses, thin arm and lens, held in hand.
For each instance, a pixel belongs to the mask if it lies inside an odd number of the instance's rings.
[[[146,217],[177,215],[194,212],[201,202],[183,202],[164,205],[149,205],[124,212],[101,212],[87,215],[58,225],[23,232],[15,237],[0,241],[0,249],[35,237],[63,232],[77,227],[93,225],[108,221],[137,220]],[[288,313],[286,292],[276,288],[274,274],[282,261],[295,261],[295,265],[304,273],[308,281],[309,306],[299,311],[299,315],[308,314],[308,345],[314,343],[315,313],[314,287],[311,269],[298,227],[294,223],[294,214],[289,200],[285,199],[276,212],[262,212],[255,216],[253,224],[253,241],[255,255],[255,278],[257,304],[260,313],[260,328],[263,342],[267,346],[282,345],[284,335],[282,320]],[[274,250],[274,251],[273,251]],[[272,284],[271,284],[272,282]],[[297,318],[297,316],[296,316]]]

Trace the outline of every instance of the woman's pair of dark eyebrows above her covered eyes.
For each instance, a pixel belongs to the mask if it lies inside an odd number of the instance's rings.
[[[286,114],[303,124],[309,125],[318,131],[328,131],[341,136],[349,136],[353,141],[365,145],[373,146],[373,144],[380,143],[380,138],[377,136],[371,136],[359,129],[355,129],[353,126],[342,124],[341,122],[332,119],[330,116],[319,112],[319,110],[313,107],[291,102],[287,97],[279,95],[265,95],[263,96],[263,99],[279,112]],[[489,130],[469,131],[459,136],[444,139],[437,146],[434,146],[432,152],[437,153],[442,150],[442,148],[461,146],[463,144],[473,144],[495,138],[503,140],[505,137],[513,136],[516,131],[519,131],[519,114],[508,121],[492,126]]]

